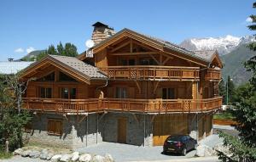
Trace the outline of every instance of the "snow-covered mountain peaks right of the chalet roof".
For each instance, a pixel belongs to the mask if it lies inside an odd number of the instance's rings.
[[[230,53],[236,47],[247,42],[255,42],[254,36],[224,36],[224,37],[206,37],[192,38],[180,43],[181,47],[189,50],[218,50],[220,55]]]

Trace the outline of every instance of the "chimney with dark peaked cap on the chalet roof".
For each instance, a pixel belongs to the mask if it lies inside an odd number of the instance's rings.
[[[94,30],[92,32],[91,39],[95,44],[98,44],[99,42],[104,41],[109,36],[113,36],[115,34],[115,31],[113,28],[108,27],[108,25],[104,25],[101,22],[96,22],[94,25]]]

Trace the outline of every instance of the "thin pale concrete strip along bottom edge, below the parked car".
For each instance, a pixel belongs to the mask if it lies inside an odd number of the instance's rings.
[[[193,161],[219,161],[217,156],[211,157],[195,157],[195,158],[183,158],[183,159],[162,159],[162,160],[146,160],[146,161],[131,161],[131,162],[193,162]]]

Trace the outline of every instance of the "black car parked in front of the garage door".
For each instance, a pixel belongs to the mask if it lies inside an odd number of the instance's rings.
[[[195,149],[197,142],[187,135],[172,135],[166,138],[163,153],[178,153],[186,155],[187,151]]]

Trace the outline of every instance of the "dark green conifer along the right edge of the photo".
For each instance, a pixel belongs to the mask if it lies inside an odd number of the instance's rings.
[[[256,8],[256,3],[253,3]],[[249,25],[250,30],[256,31],[256,16],[250,16],[253,25]],[[256,51],[256,42],[248,47]],[[224,138],[224,146],[228,147],[230,154],[218,152],[218,158],[223,161],[256,161],[256,58],[253,56],[245,63],[247,70],[253,72],[249,83],[238,87],[233,98],[236,109],[232,110],[232,115],[239,125],[235,126],[239,131],[239,137],[230,136],[224,132],[219,132],[219,136]]]

